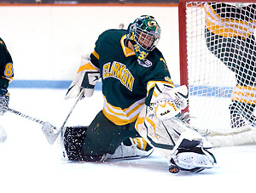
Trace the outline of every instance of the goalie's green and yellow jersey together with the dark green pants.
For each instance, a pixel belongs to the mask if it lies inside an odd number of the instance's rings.
[[[95,161],[114,150],[127,138],[140,137],[135,122],[143,105],[149,105],[156,82],[174,87],[163,55],[157,48],[140,65],[126,45],[125,30],[104,31],[90,54],[87,70],[100,71],[104,105],[86,130],[84,159]],[[143,150],[147,149],[143,145]],[[87,158],[86,158],[87,157]]]

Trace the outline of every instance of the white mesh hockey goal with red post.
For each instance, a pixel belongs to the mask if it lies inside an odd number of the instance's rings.
[[[181,0],[178,17],[189,123],[213,145],[255,142],[255,0]]]

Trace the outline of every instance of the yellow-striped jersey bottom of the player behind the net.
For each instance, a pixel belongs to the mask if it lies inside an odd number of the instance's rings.
[[[223,37],[249,37],[256,28],[256,4],[237,8],[227,3],[205,3],[206,27]]]

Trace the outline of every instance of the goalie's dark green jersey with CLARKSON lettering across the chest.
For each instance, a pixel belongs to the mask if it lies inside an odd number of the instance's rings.
[[[136,54],[125,46],[125,30],[104,31],[96,41],[90,59],[101,72],[103,114],[117,125],[135,122],[155,82],[171,84],[163,55],[154,48],[147,65],[140,65]],[[146,103],[147,104],[147,103]]]

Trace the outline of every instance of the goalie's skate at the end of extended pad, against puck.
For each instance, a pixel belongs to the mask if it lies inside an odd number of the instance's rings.
[[[215,157],[207,149],[211,148],[208,141],[202,139],[183,139],[175,153],[172,154],[169,172],[180,170],[199,173],[206,168],[214,167]]]

